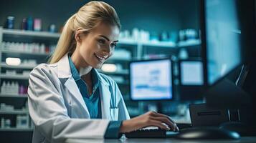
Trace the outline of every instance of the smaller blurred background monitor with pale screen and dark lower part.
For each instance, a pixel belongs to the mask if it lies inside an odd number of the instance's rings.
[[[179,101],[203,100],[204,68],[202,59],[179,60]]]

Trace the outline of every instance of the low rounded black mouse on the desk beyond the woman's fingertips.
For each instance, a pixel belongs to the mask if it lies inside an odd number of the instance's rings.
[[[176,139],[240,139],[240,134],[218,127],[191,127],[181,129]]]

